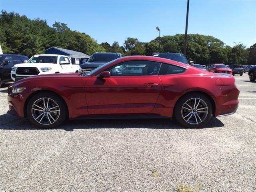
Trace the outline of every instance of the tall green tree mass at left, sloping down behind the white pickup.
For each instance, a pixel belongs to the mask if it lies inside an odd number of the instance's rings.
[[[90,36],[72,31],[67,24],[55,22],[52,27],[45,20],[28,19],[14,12],[0,14],[0,44],[4,53],[32,56],[42,54],[51,46],[71,49],[85,54],[105,52]]]

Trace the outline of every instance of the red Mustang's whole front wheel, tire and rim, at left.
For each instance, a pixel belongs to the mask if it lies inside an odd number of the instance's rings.
[[[27,115],[30,122],[40,128],[54,128],[64,122],[67,109],[59,96],[39,93],[29,100]]]

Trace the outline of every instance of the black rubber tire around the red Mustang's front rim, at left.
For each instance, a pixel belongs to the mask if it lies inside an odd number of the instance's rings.
[[[56,104],[58,104],[58,106],[59,106],[58,118],[52,124],[47,124],[47,125],[46,124],[40,124],[33,117],[32,106],[33,106],[34,102],[40,100],[41,98],[50,98],[51,100],[54,100],[54,102],[56,102]],[[50,92],[43,92],[43,93],[38,93],[38,94],[34,95],[28,101],[28,105],[27,105],[27,109],[26,109],[29,121],[32,124],[34,124],[35,126],[38,126],[39,128],[46,128],[46,129],[47,128],[55,128],[55,127],[59,126],[60,124],[62,124],[66,120],[66,118],[68,116],[68,112],[67,111],[68,111],[68,109],[66,108],[66,104],[62,100],[62,98],[60,98],[60,96],[58,96],[58,95],[56,95],[54,93],[50,93]],[[38,112],[38,113],[42,113],[42,112]],[[46,119],[48,119],[48,118],[46,118]]]

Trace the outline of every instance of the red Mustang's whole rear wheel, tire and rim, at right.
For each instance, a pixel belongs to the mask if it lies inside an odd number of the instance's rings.
[[[175,109],[176,120],[188,128],[200,128],[212,116],[212,104],[203,94],[192,93],[178,100]]]

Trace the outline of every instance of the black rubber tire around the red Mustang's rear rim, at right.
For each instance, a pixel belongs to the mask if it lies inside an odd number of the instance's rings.
[[[184,118],[182,117],[183,105],[185,104],[185,102],[187,102],[188,100],[190,100],[192,98],[198,98],[198,99],[203,100],[204,103],[208,107],[208,113],[205,115],[204,120],[202,120],[202,122],[200,122],[198,124],[190,124],[189,122],[184,120]],[[209,122],[210,118],[212,117],[212,103],[204,94],[200,94],[200,93],[187,94],[185,96],[182,96],[182,98],[180,98],[178,100],[178,102],[176,103],[175,108],[174,108],[174,116],[175,116],[175,119],[181,125],[183,125],[187,128],[201,128],[202,126],[206,125]]]

